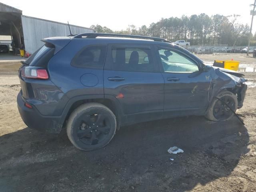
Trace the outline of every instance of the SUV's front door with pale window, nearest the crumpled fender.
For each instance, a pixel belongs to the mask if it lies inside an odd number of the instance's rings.
[[[164,110],[174,115],[204,112],[208,106],[209,72],[202,72],[198,63],[180,50],[158,46],[157,52],[165,81]]]

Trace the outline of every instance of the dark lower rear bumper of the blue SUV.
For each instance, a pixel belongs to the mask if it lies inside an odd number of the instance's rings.
[[[17,96],[17,104],[20,116],[29,128],[47,133],[60,133],[64,122],[61,116],[44,116],[35,106],[27,108],[20,93]]]

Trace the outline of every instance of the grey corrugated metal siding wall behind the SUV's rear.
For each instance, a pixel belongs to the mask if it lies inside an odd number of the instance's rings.
[[[70,35],[68,25],[65,24],[39,20],[23,15],[21,16],[21,19],[25,49],[30,54],[43,46],[44,43],[41,40],[44,38]],[[92,29],[75,26],[70,26],[70,29],[73,34],[93,32]]]

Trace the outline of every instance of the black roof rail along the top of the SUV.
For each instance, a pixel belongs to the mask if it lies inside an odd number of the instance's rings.
[[[112,33],[82,33],[74,38],[96,38],[98,36],[101,37],[128,37],[128,38],[136,38],[136,39],[150,39],[158,42],[166,42],[166,43],[172,43],[167,39],[159,38],[159,37],[148,37],[148,36],[140,36],[140,35],[125,35],[125,34],[112,34]]]

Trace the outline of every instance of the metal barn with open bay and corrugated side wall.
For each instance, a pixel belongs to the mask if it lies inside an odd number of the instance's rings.
[[[94,32],[91,28],[70,24],[73,34]],[[44,43],[40,40],[53,36],[68,36],[68,24],[22,15],[22,10],[0,3],[0,35],[12,36],[15,48],[34,53]]]

